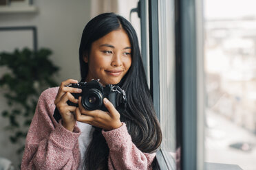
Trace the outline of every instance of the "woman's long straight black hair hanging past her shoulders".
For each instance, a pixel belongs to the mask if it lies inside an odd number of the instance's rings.
[[[127,94],[127,109],[120,112],[120,121],[125,122],[133,143],[145,153],[155,152],[162,141],[162,133],[153,102],[147,85],[143,68],[138,38],[134,27],[122,16],[114,13],[105,13],[89,21],[83,30],[79,59],[81,79],[85,81],[88,73],[88,64],[83,56],[90,53],[92,42],[102,38],[109,32],[124,29],[131,42],[131,67],[118,84]],[[100,130],[94,130],[92,141],[85,153],[85,169],[107,169],[109,147]],[[156,163],[156,161],[155,161]],[[153,164],[153,167],[155,166]]]

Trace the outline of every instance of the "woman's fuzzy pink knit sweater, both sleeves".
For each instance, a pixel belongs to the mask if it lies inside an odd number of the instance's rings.
[[[36,112],[28,130],[21,170],[77,169],[80,163],[78,136],[53,117],[58,88],[49,88],[39,97]],[[125,123],[116,130],[102,132],[109,146],[109,169],[151,169],[156,154],[142,153],[131,141]]]

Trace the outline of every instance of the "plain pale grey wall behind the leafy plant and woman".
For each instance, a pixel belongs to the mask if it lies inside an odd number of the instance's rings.
[[[57,82],[67,78],[80,79],[78,48],[85,24],[89,21],[91,8],[89,0],[35,0],[39,8],[36,13],[0,14],[0,27],[34,25],[38,32],[38,47],[52,49],[50,59],[61,67]],[[0,34],[0,49],[8,40]],[[0,69],[3,73],[4,69]],[[0,75],[1,75],[0,73]],[[3,91],[0,90],[0,112],[6,108]],[[17,146],[8,139],[8,132],[3,130],[7,125],[6,119],[0,116],[0,157],[5,157],[14,165],[20,158],[15,153]]]

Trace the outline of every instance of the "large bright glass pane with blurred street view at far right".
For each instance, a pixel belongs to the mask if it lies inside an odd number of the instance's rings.
[[[204,0],[205,161],[256,167],[256,1]]]

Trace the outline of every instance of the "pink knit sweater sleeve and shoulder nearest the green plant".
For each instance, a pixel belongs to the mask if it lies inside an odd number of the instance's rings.
[[[25,141],[21,170],[77,169],[80,162],[78,127],[70,132],[57,123],[52,114],[55,109],[56,89],[45,90],[39,97],[36,111]],[[74,154],[75,153],[75,154]]]

